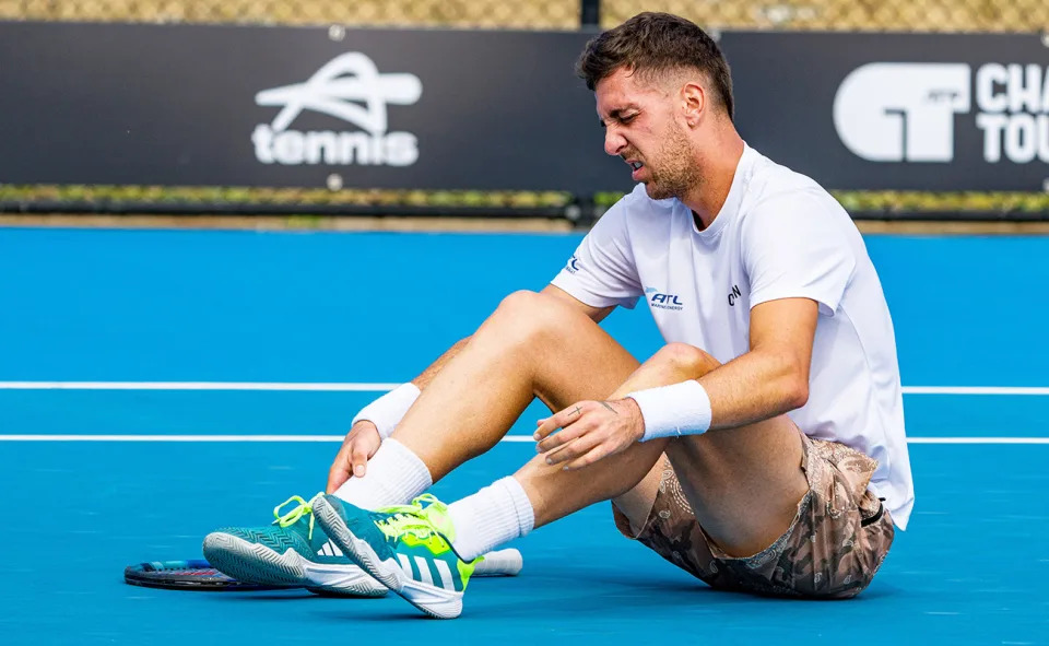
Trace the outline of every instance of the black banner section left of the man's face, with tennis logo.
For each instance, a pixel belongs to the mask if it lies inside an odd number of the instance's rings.
[[[622,188],[586,40],[0,23],[0,183]]]

